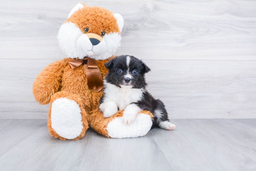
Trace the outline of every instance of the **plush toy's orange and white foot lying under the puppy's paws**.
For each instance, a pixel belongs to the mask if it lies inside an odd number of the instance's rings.
[[[111,117],[103,118],[103,114],[95,109],[90,115],[90,127],[96,132],[111,138],[141,137],[148,133],[152,126],[152,113],[141,111],[131,125],[122,121],[123,111]]]

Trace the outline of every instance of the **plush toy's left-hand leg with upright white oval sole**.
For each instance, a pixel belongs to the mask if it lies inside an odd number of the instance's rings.
[[[88,120],[79,96],[61,91],[51,97],[47,124],[51,136],[61,140],[82,138]]]

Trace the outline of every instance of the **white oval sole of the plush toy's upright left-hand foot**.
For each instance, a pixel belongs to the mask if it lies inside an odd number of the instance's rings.
[[[83,129],[79,105],[67,98],[56,99],[51,106],[51,127],[63,138],[78,137]]]

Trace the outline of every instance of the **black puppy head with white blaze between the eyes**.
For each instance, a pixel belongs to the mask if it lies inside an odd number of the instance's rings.
[[[105,81],[120,88],[141,89],[147,86],[145,73],[149,67],[138,58],[129,55],[117,56],[105,64],[109,70]]]

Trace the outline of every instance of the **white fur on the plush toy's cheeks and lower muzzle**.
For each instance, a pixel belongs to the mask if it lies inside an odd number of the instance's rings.
[[[104,60],[114,55],[121,46],[121,35],[116,32],[106,34],[101,43],[93,47],[91,42],[86,41],[86,37],[72,22],[62,24],[57,36],[61,50],[69,58],[83,59],[89,56],[95,60]]]

